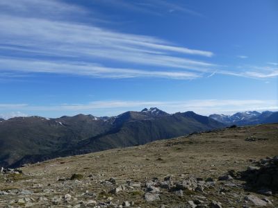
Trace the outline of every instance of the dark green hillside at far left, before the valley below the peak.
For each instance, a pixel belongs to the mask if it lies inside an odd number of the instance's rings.
[[[0,123],[0,166],[9,166],[25,155],[48,155],[72,148],[77,142],[105,132],[108,123],[90,116],[44,119],[18,117]]]

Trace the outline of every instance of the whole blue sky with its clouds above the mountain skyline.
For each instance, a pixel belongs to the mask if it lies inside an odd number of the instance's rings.
[[[0,117],[278,110],[276,0],[1,0]]]

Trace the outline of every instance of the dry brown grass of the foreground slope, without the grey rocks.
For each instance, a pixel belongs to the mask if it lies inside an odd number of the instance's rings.
[[[247,137],[265,140],[245,141]],[[70,193],[81,200],[81,193],[85,190],[98,194],[103,190],[109,191],[110,187],[105,187],[99,182],[108,180],[110,177],[115,177],[118,184],[125,184],[126,180],[145,182],[152,177],[163,180],[166,175],[173,175],[173,180],[181,180],[182,177],[188,175],[218,178],[219,175],[227,173],[230,169],[243,171],[247,166],[253,166],[251,159],[273,157],[277,153],[278,124],[231,128],[194,134],[189,137],[155,141],[144,146],[106,150],[33,164],[22,168],[24,173],[32,175],[33,180],[14,182],[13,186],[40,194],[43,189],[35,188],[36,184],[40,184],[42,187],[57,191],[44,193],[47,198],[51,199],[53,196],[64,196],[65,193]],[[58,182],[57,178],[70,177],[73,173],[81,173],[84,176],[92,174],[94,180],[89,177],[82,183],[67,182],[69,186],[74,186],[74,191],[70,191],[72,189],[61,186],[63,182]],[[182,174],[183,176],[181,176]],[[51,184],[50,187],[47,184]],[[2,189],[7,189],[10,184],[3,183],[0,186]],[[233,190],[231,189],[231,194],[227,192],[226,195],[222,195],[218,189],[212,189],[210,190],[211,194],[205,196],[222,202],[222,207],[243,207],[244,200],[241,199],[242,196],[247,195],[248,191],[235,189],[234,192]],[[186,201],[192,200],[190,194],[178,197],[174,193],[163,191],[161,201],[147,203],[143,199],[143,193],[138,192],[136,195],[132,193],[132,191],[123,191],[113,195],[113,201],[133,200],[140,207],[159,207],[161,204],[179,205],[183,203],[185,205]],[[238,197],[235,198],[232,193],[236,193]],[[2,202],[9,201],[13,197],[16,196],[5,196],[1,200]],[[33,198],[35,197],[33,196]],[[276,196],[268,198],[273,200],[275,207],[278,206]],[[98,201],[100,200],[101,198],[98,199]],[[61,207],[63,206],[65,205],[62,204]]]

